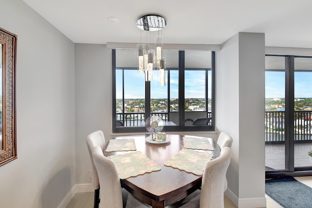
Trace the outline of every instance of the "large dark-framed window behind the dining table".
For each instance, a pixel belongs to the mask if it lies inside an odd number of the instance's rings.
[[[145,82],[136,50],[112,54],[113,132],[145,132],[152,114],[165,121],[163,131],[214,130],[214,52],[164,50],[165,86],[158,70]]]

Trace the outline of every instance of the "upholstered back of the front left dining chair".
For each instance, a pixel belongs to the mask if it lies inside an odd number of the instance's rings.
[[[100,191],[99,208],[122,208],[122,192],[116,164],[103,155],[99,146],[93,148],[92,156],[98,171],[100,187],[105,187],[105,191]]]

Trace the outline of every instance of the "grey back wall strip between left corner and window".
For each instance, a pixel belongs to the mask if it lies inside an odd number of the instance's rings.
[[[76,183],[91,183],[87,135],[112,133],[112,58],[106,45],[75,44],[76,70]]]

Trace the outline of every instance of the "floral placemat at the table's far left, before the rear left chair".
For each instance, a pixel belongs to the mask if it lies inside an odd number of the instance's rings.
[[[105,152],[136,151],[135,139],[110,139]]]

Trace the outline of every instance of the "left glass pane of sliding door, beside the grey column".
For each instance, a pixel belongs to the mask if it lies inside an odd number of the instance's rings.
[[[266,56],[266,171],[285,170],[285,57]]]

